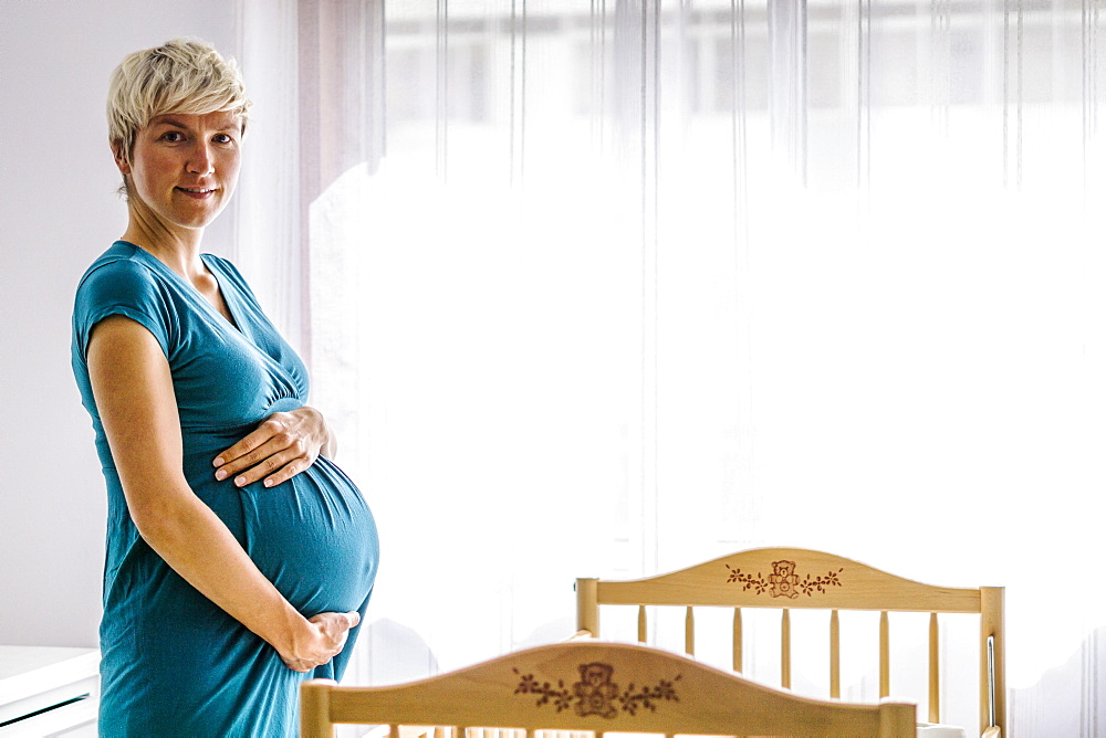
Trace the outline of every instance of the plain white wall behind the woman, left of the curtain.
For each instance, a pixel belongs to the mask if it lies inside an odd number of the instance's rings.
[[[85,267],[125,205],[104,98],[128,52],[195,35],[239,56],[225,0],[0,2],[0,643],[92,646],[101,612],[104,483],[70,370]],[[209,229],[226,252],[236,213]]]

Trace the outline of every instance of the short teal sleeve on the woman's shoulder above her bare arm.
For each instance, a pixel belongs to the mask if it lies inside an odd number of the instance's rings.
[[[88,356],[93,327],[112,315],[140,324],[169,357],[171,306],[148,268],[133,261],[111,261],[94,266],[81,281],[73,307],[73,331],[83,360]]]

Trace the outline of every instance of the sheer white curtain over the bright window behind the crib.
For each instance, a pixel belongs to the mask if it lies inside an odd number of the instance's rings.
[[[243,0],[242,259],[382,533],[353,678],[795,545],[1005,586],[1015,735],[1106,730],[1102,7]]]

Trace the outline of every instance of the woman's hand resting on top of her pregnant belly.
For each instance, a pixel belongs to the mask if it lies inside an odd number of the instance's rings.
[[[231,475],[244,487],[264,478],[272,487],[286,482],[315,463],[331,445],[323,414],[304,405],[292,412],[273,413],[258,429],[223,451],[215,460],[215,478]]]

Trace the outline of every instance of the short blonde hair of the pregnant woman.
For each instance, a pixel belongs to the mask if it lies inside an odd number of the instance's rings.
[[[129,161],[137,133],[166,113],[231,112],[242,118],[252,103],[233,59],[199,39],[173,39],[127,54],[107,88],[107,138]]]

